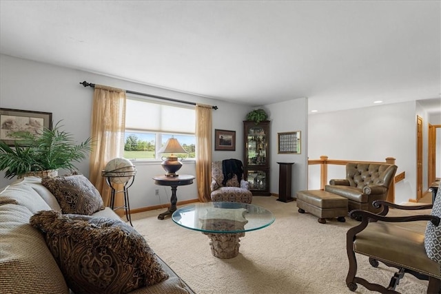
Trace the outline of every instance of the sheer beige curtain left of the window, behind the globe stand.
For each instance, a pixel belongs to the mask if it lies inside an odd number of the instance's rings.
[[[110,205],[110,187],[101,171],[111,159],[122,157],[125,132],[125,90],[95,85],[92,105],[92,139],[90,182],[101,193],[106,206]]]

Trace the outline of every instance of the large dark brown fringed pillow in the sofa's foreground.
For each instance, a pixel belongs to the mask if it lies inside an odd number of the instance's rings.
[[[143,236],[121,220],[40,211],[30,224],[74,293],[127,293],[168,278]]]

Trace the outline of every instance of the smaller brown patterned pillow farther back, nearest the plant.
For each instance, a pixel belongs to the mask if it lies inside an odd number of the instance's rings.
[[[63,213],[90,216],[95,211],[104,209],[99,191],[83,175],[43,178],[41,185],[54,194]]]

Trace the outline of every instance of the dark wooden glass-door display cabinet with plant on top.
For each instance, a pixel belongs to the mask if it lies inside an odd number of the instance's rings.
[[[245,180],[253,195],[271,196],[269,192],[269,120],[260,123],[245,120],[243,167]]]

